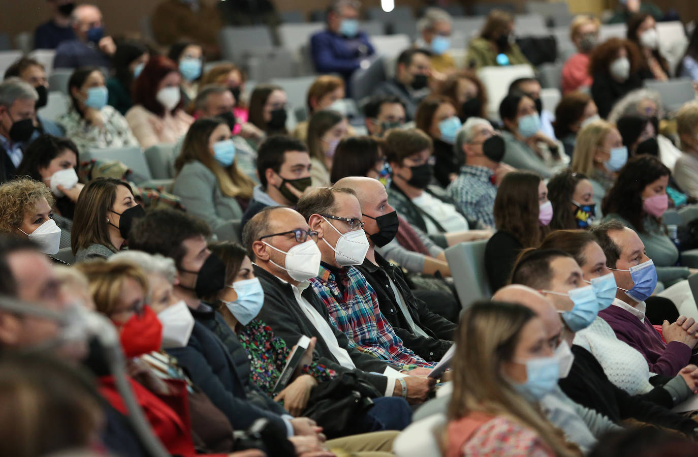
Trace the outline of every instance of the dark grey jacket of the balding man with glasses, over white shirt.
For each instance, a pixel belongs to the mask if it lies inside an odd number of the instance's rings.
[[[325,317],[325,321],[327,321],[330,328],[332,328],[337,338],[339,347],[346,349],[357,367],[356,370],[344,368],[334,357],[332,351],[329,350],[329,347],[325,344],[325,340],[323,340],[313,323],[309,321],[303,310],[299,308],[296,298],[293,296],[291,285],[281,282],[279,278],[272,275],[272,273],[269,273],[264,268],[254,266],[254,269],[255,275],[259,278],[262,283],[262,289],[264,289],[264,306],[262,306],[259,318],[269,324],[274,333],[288,344],[288,347],[295,345],[302,335],[306,335],[309,338],[314,336],[318,338],[318,342],[315,344],[316,354],[314,354],[313,360],[318,361],[318,363],[340,374],[348,371],[355,372],[359,377],[376,387],[378,391],[385,392],[387,377],[371,375],[369,373],[383,373],[387,366],[391,366],[396,370],[399,370],[399,368],[389,365],[385,361],[381,361],[369,354],[364,354],[355,347],[350,348],[346,335],[337,330],[332,324],[329,324],[329,314],[327,314],[325,305],[323,305],[320,298],[315,295],[313,288],[308,286],[302,293],[303,298],[308,300],[308,303],[315,307],[315,310],[318,310],[322,317]]]

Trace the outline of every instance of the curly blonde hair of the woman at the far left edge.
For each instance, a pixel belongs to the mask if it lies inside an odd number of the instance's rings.
[[[49,206],[54,205],[51,191],[43,182],[20,178],[0,186],[0,231],[15,233],[22,225],[24,216],[34,211],[40,198],[46,198]]]

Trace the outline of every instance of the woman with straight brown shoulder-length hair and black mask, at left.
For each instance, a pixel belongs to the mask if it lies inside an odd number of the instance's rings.
[[[82,189],[75,203],[70,247],[75,261],[107,258],[119,252],[128,239],[133,219],[142,217],[128,182],[97,178]]]

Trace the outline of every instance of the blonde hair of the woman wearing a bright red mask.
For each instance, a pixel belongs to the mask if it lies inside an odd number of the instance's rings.
[[[116,310],[127,279],[135,280],[146,295],[150,290],[145,271],[131,262],[95,260],[77,263],[74,268],[87,277],[97,311],[107,316]]]

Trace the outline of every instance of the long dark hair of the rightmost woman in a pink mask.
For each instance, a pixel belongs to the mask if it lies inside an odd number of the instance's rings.
[[[637,232],[644,232],[645,217],[652,217],[658,224],[662,220],[648,215],[642,209],[642,191],[660,177],[671,176],[671,171],[660,159],[648,155],[632,157],[621,168],[613,187],[609,189],[601,205],[604,215],[616,213],[630,222]]]

